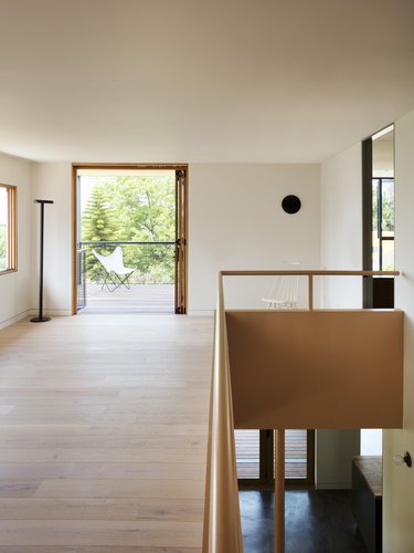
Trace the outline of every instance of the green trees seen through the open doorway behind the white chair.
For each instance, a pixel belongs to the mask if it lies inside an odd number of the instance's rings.
[[[84,198],[81,243],[86,251],[87,282],[100,282],[103,278],[92,250],[107,255],[116,247],[96,242],[112,241],[121,242],[124,264],[138,269],[131,278],[132,283],[174,282],[173,174],[162,177],[81,177],[81,194]]]

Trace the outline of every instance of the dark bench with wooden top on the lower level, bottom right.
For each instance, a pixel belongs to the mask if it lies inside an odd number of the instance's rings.
[[[352,513],[369,553],[382,552],[382,457],[352,459]]]

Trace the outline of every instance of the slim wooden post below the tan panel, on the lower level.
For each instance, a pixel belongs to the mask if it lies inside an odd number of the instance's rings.
[[[285,430],[275,430],[275,553],[285,553]]]

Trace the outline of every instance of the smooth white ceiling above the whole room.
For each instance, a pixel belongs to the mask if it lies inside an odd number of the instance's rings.
[[[0,150],[321,161],[414,108],[413,0],[0,0]]]

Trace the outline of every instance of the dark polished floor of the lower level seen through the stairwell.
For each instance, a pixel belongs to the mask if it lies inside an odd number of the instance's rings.
[[[240,492],[245,553],[273,553],[274,494]],[[286,553],[367,553],[348,490],[286,492]]]

